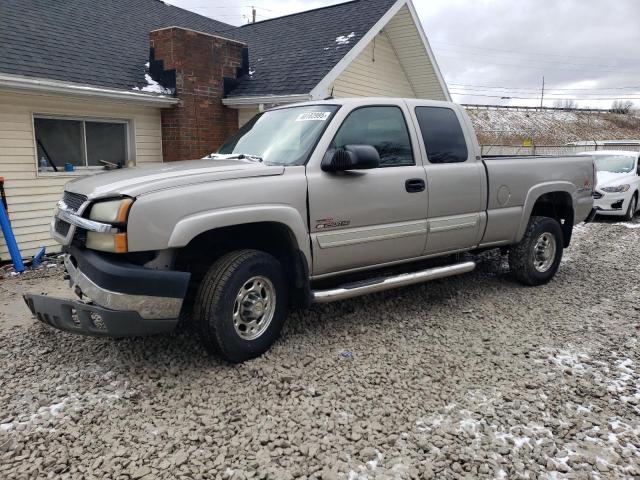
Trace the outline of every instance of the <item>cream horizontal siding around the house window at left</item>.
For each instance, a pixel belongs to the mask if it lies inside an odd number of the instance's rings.
[[[49,235],[49,224],[64,185],[77,178],[64,172],[38,175],[33,131],[33,116],[38,114],[127,120],[134,142],[130,160],[137,165],[162,162],[159,108],[0,92],[0,176],[5,179],[9,217],[24,257],[33,255],[42,245],[47,251],[59,250]],[[9,260],[1,234],[0,260]]]

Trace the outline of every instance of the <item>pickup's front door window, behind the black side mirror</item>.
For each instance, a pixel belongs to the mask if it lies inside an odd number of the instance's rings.
[[[414,165],[407,124],[398,107],[364,107],[354,110],[340,126],[331,148],[372,145],[381,167]]]

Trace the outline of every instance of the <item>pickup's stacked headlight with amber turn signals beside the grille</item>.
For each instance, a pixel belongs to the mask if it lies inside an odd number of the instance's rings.
[[[89,212],[89,220],[109,223],[115,229],[126,230],[124,227],[132,204],[131,198],[94,203]],[[101,252],[126,253],[128,251],[127,233],[126,231],[114,233],[87,231],[87,248]]]

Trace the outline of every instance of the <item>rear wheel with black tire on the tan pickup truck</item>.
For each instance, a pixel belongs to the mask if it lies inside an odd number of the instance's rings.
[[[543,237],[545,235],[546,237]],[[542,261],[536,254],[536,246],[539,240],[544,244],[544,238],[550,242],[551,237],[555,242],[555,250],[551,252],[542,249],[541,252],[548,253],[548,260]],[[562,251],[563,234],[560,223],[549,217],[531,217],[524,237],[509,250],[511,274],[524,285],[536,286],[548,283],[560,267]]]

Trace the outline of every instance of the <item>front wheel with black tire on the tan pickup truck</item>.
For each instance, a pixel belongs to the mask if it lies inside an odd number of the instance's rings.
[[[235,324],[238,309],[245,305],[240,305],[240,295],[247,289],[252,278],[270,282],[267,290],[275,291],[275,295],[269,296],[269,300],[273,300],[275,305],[265,330],[257,338],[247,339],[241,336],[250,335],[244,321],[238,322],[238,328],[245,327],[244,331],[239,331]],[[254,287],[252,284],[250,288],[255,290],[257,287]],[[255,292],[253,294],[256,295]],[[271,306],[266,298],[265,295],[265,308],[267,305]],[[209,352],[228,362],[240,363],[259,357],[278,339],[287,317],[288,300],[287,282],[280,262],[264,252],[239,250],[224,255],[211,266],[200,284],[193,319],[202,344]],[[256,301],[260,302],[262,309],[263,299],[258,296]],[[248,311],[252,315],[255,313],[250,309]],[[266,314],[262,318],[267,318]],[[256,330],[261,328],[263,326],[256,324]]]

